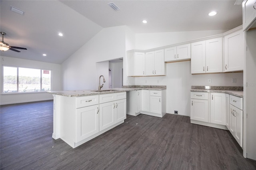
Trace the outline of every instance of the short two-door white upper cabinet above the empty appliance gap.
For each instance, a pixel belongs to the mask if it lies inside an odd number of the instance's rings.
[[[190,43],[164,49],[164,61],[167,63],[190,60],[190,57]]]

